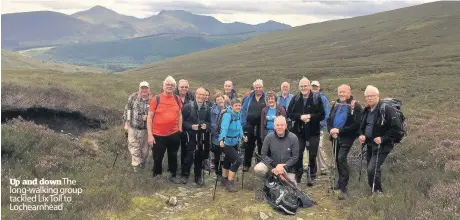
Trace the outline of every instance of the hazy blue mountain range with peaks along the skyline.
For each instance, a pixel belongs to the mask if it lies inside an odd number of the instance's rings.
[[[71,16],[52,11],[2,14],[2,48],[17,50],[162,33],[216,35],[273,32],[287,28],[290,26],[277,22],[259,25],[226,24],[210,16],[195,15],[182,10],[161,11],[158,15],[139,19],[95,6]]]

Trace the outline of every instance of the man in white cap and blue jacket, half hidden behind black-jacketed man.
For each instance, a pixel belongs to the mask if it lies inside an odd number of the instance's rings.
[[[320,171],[321,175],[327,175],[327,166],[326,166],[326,160],[325,158],[325,153],[323,150],[323,139],[325,136],[325,133],[328,133],[327,130],[327,120],[329,118],[329,114],[331,112],[331,109],[329,107],[329,100],[323,93],[323,89],[321,88],[320,84],[318,81],[313,81],[311,82],[311,91],[314,93],[318,93],[321,96],[321,101],[323,101],[323,108],[324,108],[324,119],[320,122],[321,125],[321,132],[320,132],[320,138],[319,138],[319,147],[318,147],[318,156],[316,160],[316,166],[318,166],[318,169]]]

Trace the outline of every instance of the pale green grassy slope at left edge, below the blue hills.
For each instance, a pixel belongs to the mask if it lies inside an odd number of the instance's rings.
[[[2,70],[57,70],[62,72],[107,72],[99,68],[53,63],[2,50]]]

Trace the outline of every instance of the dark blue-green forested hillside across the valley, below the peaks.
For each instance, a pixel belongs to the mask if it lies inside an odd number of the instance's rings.
[[[244,41],[261,33],[237,35],[159,34],[126,40],[66,44],[20,51],[42,60],[123,71],[155,61]]]

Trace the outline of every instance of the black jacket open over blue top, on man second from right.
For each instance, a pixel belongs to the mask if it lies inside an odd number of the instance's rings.
[[[350,99],[347,100],[348,104],[348,114],[347,114],[347,120],[345,121],[345,124],[341,129],[339,129],[339,138],[341,143],[346,143],[348,145],[352,145],[354,140],[358,137],[359,134],[359,128],[361,126],[361,117],[363,114],[363,108],[361,105],[358,103],[358,101],[355,101],[354,108],[352,109],[351,102],[352,100],[355,100],[353,96],[350,97]],[[340,99],[337,99],[336,103],[340,103]],[[335,108],[334,104],[331,109],[331,114],[329,115],[329,119],[327,120],[327,130],[328,132],[331,132],[331,129],[334,127],[334,118],[335,114],[337,112],[337,108]],[[353,115],[352,115],[353,112]],[[331,137],[332,138],[332,137]]]

